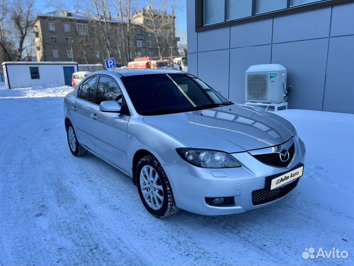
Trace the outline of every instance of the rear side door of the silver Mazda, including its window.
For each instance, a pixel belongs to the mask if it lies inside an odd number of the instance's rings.
[[[74,126],[77,139],[88,148],[92,146],[92,142],[90,142],[91,137],[89,135],[89,123],[91,121],[90,108],[93,103],[96,81],[97,76],[92,76],[79,86],[76,100],[71,107],[71,123]]]

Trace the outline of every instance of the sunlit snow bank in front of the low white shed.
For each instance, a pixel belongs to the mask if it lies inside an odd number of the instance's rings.
[[[59,84],[19,89],[7,89],[4,82],[0,83],[0,99],[64,97],[72,91],[72,87],[60,86]]]

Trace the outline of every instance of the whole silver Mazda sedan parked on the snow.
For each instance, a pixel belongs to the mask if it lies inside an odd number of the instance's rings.
[[[65,97],[64,113],[71,153],[89,151],[129,175],[156,217],[263,207],[303,173],[305,146],[290,122],[185,72],[93,72]]]

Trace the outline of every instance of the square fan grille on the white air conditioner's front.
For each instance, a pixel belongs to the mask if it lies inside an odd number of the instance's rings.
[[[268,98],[268,75],[248,74],[247,75],[247,99],[267,100]]]

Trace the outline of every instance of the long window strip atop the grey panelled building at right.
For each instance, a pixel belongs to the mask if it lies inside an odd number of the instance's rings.
[[[238,20],[263,13],[328,0],[198,0],[203,5],[203,25]],[[226,8],[226,10],[225,10]],[[310,7],[311,8],[311,7]]]

